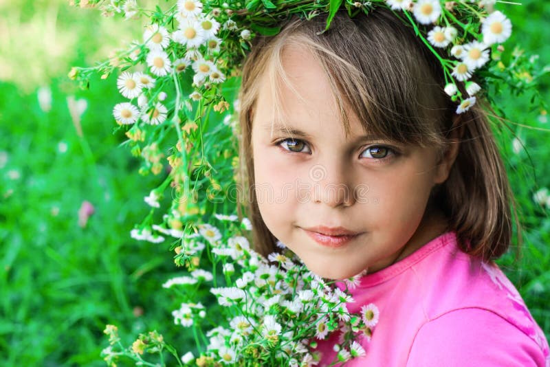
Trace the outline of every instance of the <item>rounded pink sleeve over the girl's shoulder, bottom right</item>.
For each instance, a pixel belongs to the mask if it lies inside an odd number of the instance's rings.
[[[407,366],[544,366],[540,347],[493,311],[455,309],[423,324]]]

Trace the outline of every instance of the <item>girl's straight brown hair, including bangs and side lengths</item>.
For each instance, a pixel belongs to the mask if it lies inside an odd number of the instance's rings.
[[[252,120],[259,95],[259,80],[269,78],[275,100],[278,85],[287,76],[282,67],[283,50],[299,45],[311,52],[325,71],[346,133],[347,108],[362,122],[365,131],[404,144],[445,146],[454,129],[461,136],[459,153],[448,179],[432,190],[428,205],[439,205],[448,217],[463,252],[484,260],[498,258],[510,245],[514,197],[489,120],[478,102],[455,115],[456,104],[443,91],[445,80],[437,58],[411,27],[392,12],[377,9],[350,18],[338,12],[327,32],[327,14],[306,21],[294,15],[282,24],[276,36],[256,36],[243,65],[240,104],[239,184],[246,192],[245,206],[252,222],[256,249],[268,254],[276,238],[267,229],[257,205],[252,157]],[[265,74],[267,73],[267,74]],[[284,125],[276,107],[274,122]],[[457,118],[458,117],[458,118]],[[453,124],[454,122],[454,124]],[[242,209],[239,207],[239,213]],[[517,215],[518,240],[521,242]]]

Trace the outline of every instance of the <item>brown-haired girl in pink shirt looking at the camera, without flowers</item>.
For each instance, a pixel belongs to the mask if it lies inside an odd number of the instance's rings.
[[[352,277],[338,284],[371,327],[347,366],[550,366],[492,261],[512,198],[483,110],[455,113],[439,63],[392,12],[362,15],[338,12],[325,33],[326,16],[294,17],[254,39],[239,94],[254,243]]]

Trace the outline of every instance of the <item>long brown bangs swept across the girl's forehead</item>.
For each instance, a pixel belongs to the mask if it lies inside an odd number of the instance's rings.
[[[426,45],[417,45],[414,31],[391,26],[399,21],[393,14],[375,10],[361,16],[369,16],[369,21],[357,22],[339,12],[331,23],[337,31],[324,34],[318,33],[325,29],[326,15],[310,21],[295,16],[285,24],[272,43],[263,75],[272,88],[272,121],[286,126],[281,83],[307,104],[292,86],[282,63],[287,47],[299,47],[325,71],[346,135],[352,113],[367,134],[401,144],[440,145],[441,130],[447,125],[445,121],[450,122],[452,108],[443,91],[443,80],[433,76],[437,59],[432,65],[422,61],[434,56],[421,54]],[[350,42],[355,43],[353,47]],[[443,76],[443,71],[439,73]]]

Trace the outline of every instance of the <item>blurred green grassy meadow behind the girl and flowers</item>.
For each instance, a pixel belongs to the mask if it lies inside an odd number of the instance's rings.
[[[514,24],[507,45],[548,65],[550,3],[522,3],[497,4]],[[129,236],[157,181],[138,175],[124,134],[113,133],[116,76],[86,91],[67,78],[141,36],[140,21],[66,0],[0,0],[2,366],[104,366],[105,324],[118,325],[125,345],[153,329],[176,348],[187,340],[161,287],[177,274],[168,245]],[[546,76],[545,100],[549,86]],[[550,337],[550,124],[543,109],[527,109],[529,98],[499,95],[512,131],[498,140],[525,243],[519,259],[512,249],[498,263]]]

